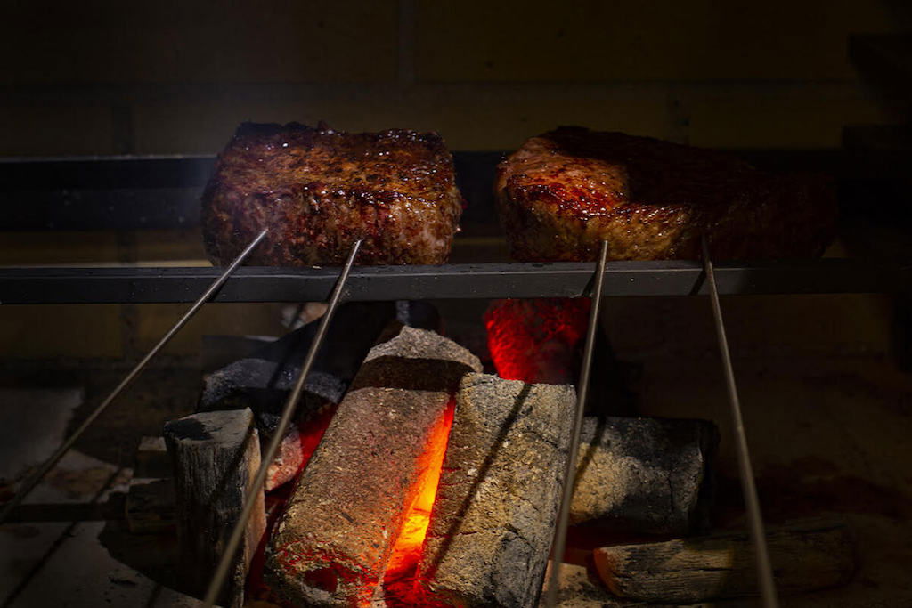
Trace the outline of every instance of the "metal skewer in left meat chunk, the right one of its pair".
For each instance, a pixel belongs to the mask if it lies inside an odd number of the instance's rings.
[[[250,495],[244,500],[244,509],[241,510],[241,516],[234,524],[231,538],[225,546],[222,559],[219,561],[215,573],[212,575],[212,581],[209,583],[209,589],[206,591],[206,597],[203,602],[205,608],[212,608],[216,599],[218,599],[219,593],[222,591],[222,586],[234,561],[234,554],[237,552],[238,547],[241,545],[241,540],[244,538],[247,520],[250,519],[250,515],[254,511],[254,504],[256,503],[259,493],[263,491],[266,472],[269,470],[269,465],[275,458],[275,452],[278,451],[279,444],[282,442],[282,439],[285,438],[285,430],[287,430],[288,425],[291,423],[291,418],[295,413],[297,402],[301,398],[301,393],[304,392],[304,386],[307,376],[310,374],[310,368],[314,365],[316,354],[319,352],[320,345],[323,344],[323,338],[326,336],[326,329],[329,327],[330,321],[332,321],[333,314],[336,313],[337,305],[342,297],[342,291],[348,280],[348,273],[351,272],[351,267],[355,263],[355,258],[358,256],[358,249],[360,249],[360,247],[360,241],[352,246],[351,252],[348,253],[348,259],[345,266],[342,268],[342,272],[339,273],[336,287],[333,289],[333,293],[329,298],[329,305],[326,307],[326,313],[324,313],[323,318],[320,319],[320,325],[316,329],[314,341],[310,344],[310,349],[307,351],[304,366],[301,367],[301,373],[297,376],[295,386],[292,388],[288,400],[285,401],[285,406],[282,409],[282,417],[279,418],[278,426],[275,428],[275,434],[269,441],[269,446],[266,448],[260,463],[260,469],[256,472],[254,482],[250,485]]]

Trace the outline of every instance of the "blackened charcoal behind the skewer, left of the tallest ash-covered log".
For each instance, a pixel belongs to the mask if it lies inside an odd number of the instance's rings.
[[[349,302],[338,307],[305,385],[299,417],[306,419],[342,400],[383,327],[394,318],[392,302]],[[304,365],[318,321],[305,325],[205,380],[197,411],[254,411],[257,427],[272,435],[285,399]]]

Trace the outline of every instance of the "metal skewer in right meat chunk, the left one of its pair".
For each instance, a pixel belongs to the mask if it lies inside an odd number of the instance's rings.
[[[605,284],[605,266],[608,259],[608,243],[602,241],[602,251],[598,257],[596,269],[596,286],[592,295],[592,308],[589,310],[589,327],[586,332],[586,347],[583,350],[583,369],[579,375],[579,386],[576,387],[576,413],[573,434],[570,436],[570,452],[567,454],[564,469],[564,494],[561,498],[561,509],[557,514],[557,525],[554,527],[554,542],[551,551],[551,578],[548,581],[548,594],[545,604],[550,608],[557,605],[557,587],[560,582],[561,564],[567,541],[567,524],[570,520],[570,503],[573,501],[573,490],[576,479],[576,452],[579,450],[579,435],[583,428],[583,410],[586,408],[586,395],[589,392],[589,374],[592,370],[592,354],[596,348],[596,331],[598,314],[602,307],[602,289]]]

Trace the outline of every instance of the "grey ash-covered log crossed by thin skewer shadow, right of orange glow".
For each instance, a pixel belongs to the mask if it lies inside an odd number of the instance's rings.
[[[535,605],[574,405],[572,386],[463,378],[419,567],[431,603]]]

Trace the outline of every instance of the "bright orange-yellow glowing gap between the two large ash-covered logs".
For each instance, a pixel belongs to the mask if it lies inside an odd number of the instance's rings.
[[[455,402],[451,402],[435,425],[428,441],[427,448],[421,457],[424,470],[418,480],[418,494],[409,509],[399,539],[393,546],[387,563],[386,582],[400,579],[413,572],[421,559],[421,547],[428,533],[430,511],[437,496],[437,485],[440,483],[440,469],[443,467],[443,456],[450,438],[453,423]]]

